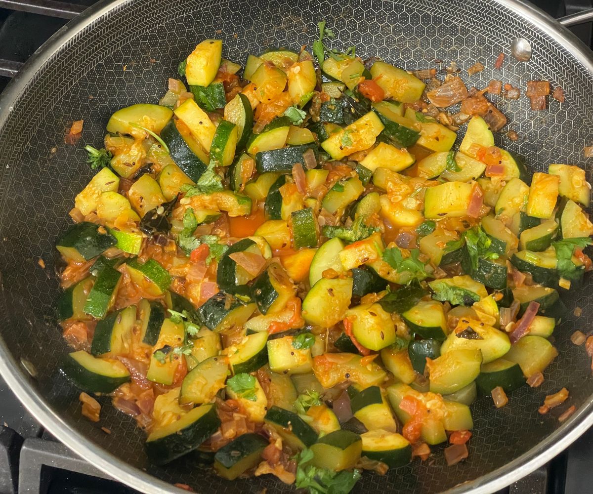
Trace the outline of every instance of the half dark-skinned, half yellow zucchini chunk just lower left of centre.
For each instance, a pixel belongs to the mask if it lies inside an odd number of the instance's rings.
[[[218,292],[200,305],[197,315],[208,329],[224,333],[243,326],[256,307],[256,304],[246,304],[237,298],[232,298],[231,304],[228,305],[227,294]]]

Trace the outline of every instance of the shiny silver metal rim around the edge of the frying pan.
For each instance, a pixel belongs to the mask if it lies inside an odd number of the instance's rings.
[[[515,14],[530,21],[545,33],[552,34],[556,41],[562,43],[584,65],[591,77],[593,77],[593,52],[572,34],[568,28],[563,27],[554,18],[550,17],[550,15],[534,5],[525,3],[523,0],[494,1],[502,8],[511,9]],[[52,58],[56,52],[59,52],[63,44],[101,16],[109,13],[119,5],[128,3],[130,3],[130,0],[100,1],[70,21],[66,26],[60,28],[59,31],[50,37],[27,60],[17,77],[9,83],[2,95],[0,95],[0,127],[4,126],[9,119],[12,104],[17,100],[28,81],[33,78],[47,60]],[[113,477],[113,479],[119,480],[147,494],[186,492],[139,468],[125,463],[109,451],[103,450],[103,448],[93,447],[84,435],[64,422],[59,415],[50,409],[46,401],[36,393],[33,385],[28,382],[30,378],[27,377],[22,366],[15,361],[12,354],[8,351],[7,345],[1,335],[0,373],[21,403],[23,403],[24,407],[31,415],[39,420],[44,428],[56,436],[56,438],[59,438],[66,447],[89,461],[89,463],[98,469],[104,471],[110,477]],[[489,494],[502,489],[536,470],[544,463],[547,463],[547,461],[550,461],[578,439],[592,425],[593,396],[589,397],[578,413],[570,417],[566,423],[561,425],[535,447],[531,448],[531,450],[515,458],[510,463],[506,463],[504,466],[482,477],[452,487],[443,494],[461,494],[466,492]]]

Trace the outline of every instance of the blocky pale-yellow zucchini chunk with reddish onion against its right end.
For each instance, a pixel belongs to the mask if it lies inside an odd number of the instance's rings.
[[[426,219],[459,218],[467,215],[473,193],[473,185],[462,182],[447,182],[428,187],[424,198]]]

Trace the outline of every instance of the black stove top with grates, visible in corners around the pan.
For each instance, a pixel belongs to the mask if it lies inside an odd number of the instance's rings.
[[[535,0],[553,17],[593,0]],[[0,0],[0,91],[33,52],[94,0]],[[570,28],[592,46],[593,25]],[[496,494],[593,492],[593,428],[547,465]],[[60,444],[21,406],[0,377],[0,494],[132,494]]]

